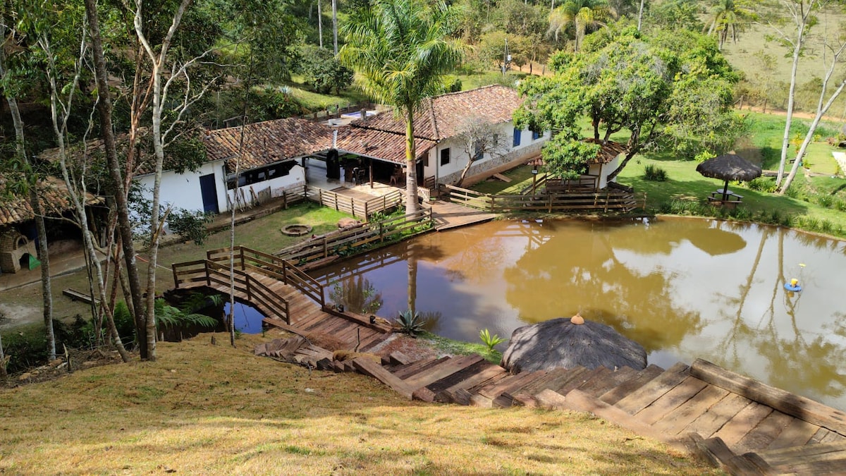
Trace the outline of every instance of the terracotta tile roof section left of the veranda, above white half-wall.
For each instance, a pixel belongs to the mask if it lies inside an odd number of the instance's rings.
[[[241,128],[209,130],[203,142],[209,160],[224,159],[235,170]],[[244,126],[244,155],[240,169],[254,169],[286,158],[297,158],[332,148],[332,128],[305,119],[276,119]]]

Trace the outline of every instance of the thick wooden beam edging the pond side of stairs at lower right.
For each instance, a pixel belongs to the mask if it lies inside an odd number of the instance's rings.
[[[779,412],[814,423],[846,436],[846,413],[804,396],[777,389],[759,380],[735,374],[700,358],[690,366],[690,374],[728,391],[745,396]]]

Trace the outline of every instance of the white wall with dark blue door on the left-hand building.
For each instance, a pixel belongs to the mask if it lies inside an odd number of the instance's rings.
[[[162,205],[173,205],[194,212],[203,211],[203,196],[200,190],[200,177],[214,174],[217,189],[217,208],[226,211],[226,175],[223,174],[223,161],[215,160],[203,163],[194,172],[186,170],[184,174],[177,174],[173,170],[162,172],[162,185],[159,189],[159,199]],[[144,187],[146,198],[152,200],[154,174],[135,177],[135,181]]]

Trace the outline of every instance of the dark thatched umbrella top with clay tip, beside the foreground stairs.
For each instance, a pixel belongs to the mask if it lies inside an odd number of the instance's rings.
[[[515,329],[500,365],[512,374],[578,366],[641,370],[646,351],[612,327],[576,314]]]

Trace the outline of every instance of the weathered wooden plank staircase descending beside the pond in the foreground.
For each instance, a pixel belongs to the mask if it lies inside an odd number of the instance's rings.
[[[408,398],[592,412],[736,474],[846,473],[846,414],[697,360],[666,370],[572,368],[509,374],[480,356],[354,368]]]

